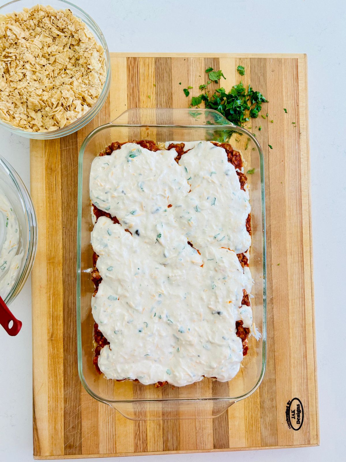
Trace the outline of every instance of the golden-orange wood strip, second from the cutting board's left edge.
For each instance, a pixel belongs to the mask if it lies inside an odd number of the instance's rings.
[[[48,311],[48,430],[53,455],[64,453],[64,365],[63,365],[63,254],[60,140],[47,140],[47,311]],[[51,294],[54,293],[54,297]]]

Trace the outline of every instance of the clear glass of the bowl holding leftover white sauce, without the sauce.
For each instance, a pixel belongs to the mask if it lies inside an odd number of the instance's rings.
[[[37,225],[34,206],[28,190],[16,170],[1,156],[0,191],[6,195],[17,215],[20,238],[19,251],[23,251],[23,259],[17,277],[4,298],[6,305],[9,305],[17,297],[31,273],[37,248]]]

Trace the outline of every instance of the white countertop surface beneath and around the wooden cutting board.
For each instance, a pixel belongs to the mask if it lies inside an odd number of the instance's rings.
[[[346,279],[346,2],[75,2],[99,24],[111,51],[308,54],[321,445],[313,448],[245,451],[241,453],[241,457],[244,461],[266,462],[279,459],[282,462],[291,462],[293,459],[298,462],[345,460],[346,307],[344,300],[340,300],[339,293]],[[209,15],[212,15],[213,19],[206,30],[204,26]],[[226,35],[222,33],[225,30]],[[1,128],[0,141],[1,155],[10,161],[29,187],[29,141],[8,134]],[[0,461],[26,462],[32,460],[30,280],[11,305],[11,310],[23,321],[23,328],[20,334],[13,338],[0,330]],[[330,327],[329,321],[332,322]],[[236,460],[238,457],[238,453],[227,452],[212,455],[136,456],[121,460],[206,462],[212,459],[218,462]],[[90,462],[93,460],[96,459],[88,459]],[[120,461],[120,458],[116,460]]]

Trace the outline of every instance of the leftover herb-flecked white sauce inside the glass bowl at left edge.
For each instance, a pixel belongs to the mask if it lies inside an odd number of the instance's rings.
[[[18,219],[6,195],[0,192],[0,296],[5,299],[23,261]]]

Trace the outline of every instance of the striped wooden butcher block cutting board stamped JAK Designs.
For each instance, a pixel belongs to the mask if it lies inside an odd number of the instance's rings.
[[[113,53],[111,61],[111,90],[99,115],[78,133],[30,144],[31,196],[39,226],[32,272],[34,457],[319,444],[306,56]],[[245,76],[237,73],[238,65],[245,67]],[[132,421],[95,401],[78,378],[78,151],[92,129],[126,109],[189,107],[183,88],[191,85],[190,96],[198,95],[208,67],[223,71],[227,80],[221,85],[227,91],[242,79],[269,101],[262,109],[268,118],[248,123],[265,165],[266,372],[255,393],[215,419]]]

